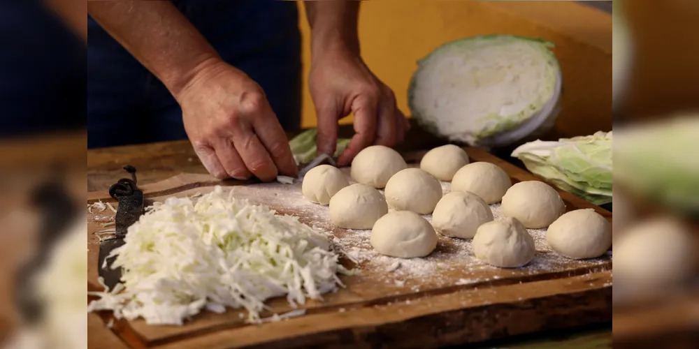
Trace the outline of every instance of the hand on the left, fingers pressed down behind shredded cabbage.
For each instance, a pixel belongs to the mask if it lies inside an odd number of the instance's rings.
[[[218,179],[273,181],[298,168],[264,91],[223,61],[199,69],[175,98],[185,131],[206,170]]]

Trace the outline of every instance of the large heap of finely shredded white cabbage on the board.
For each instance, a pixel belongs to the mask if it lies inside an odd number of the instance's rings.
[[[149,207],[113,251],[122,284],[88,311],[144,318],[151,325],[182,325],[201,309],[244,307],[259,322],[266,299],[287,295],[292,306],[343,285],[347,273],[329,251],[326,235],[294,216],[226,195],[220,186],[196,204],[168,198]],[[123,290],[123,292],[122,292]]]

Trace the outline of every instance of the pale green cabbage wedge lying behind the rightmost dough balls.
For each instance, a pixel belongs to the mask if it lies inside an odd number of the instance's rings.
[[[535,140],[514,149],[512,156],[564,191],[595,205],[612,202],[612,132]]]

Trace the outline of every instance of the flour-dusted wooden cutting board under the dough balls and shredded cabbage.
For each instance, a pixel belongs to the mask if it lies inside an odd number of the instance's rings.
[[[485,151],[465,149],[472,162],[496,163],[513,182],[538,179]],[[417,165],[423,155],[413,152],[405,158]],[[303,223],[331,232],[349,255],[343,264],[361,273],[343,276],[346,288],[325,295],[323,302],[300,306],[305,315],[262,325],[245,324],[243,311],[233,309],[224,314],[203,312],[180,327],[117,320],[108,328],[104,324],[111,321],[109,313],[91,314],[90,343],[136,348],[428,348],[612,320],[610,253],[594,260],[562,258],[545,244],[544,230],[530,230],[538,253],[520,269],[484,265],[470,252],[470,241],[447,237],[440,237],[436,251],[427,258],[401,260],[377,255],[368,244],[366,230],[334,227],[327,207],[303,199],[300,184],[240,184],[203,174],[180,174],[142,188],[147,200],[160,201],[207,193],[217,184],[237,198],[298,216]],[[449,184],[442,188],[449,191]],[[609,211],[560,193],[568,210],[593,208],[612,220]],[[88,197],[88,203],[102,200],[116,205],[106,191]],[[491,208],[498,216],[498,205]],[[113,215],[110,209],[89,214],[89,290],[99,290],[99,239],[94,232],[106,229],[103,225],[113,221]],[[293,310],[285,299],[268,304],[273,311],[264,317]]]

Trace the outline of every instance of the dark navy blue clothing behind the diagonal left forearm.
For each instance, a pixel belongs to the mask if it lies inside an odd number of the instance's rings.
[[[173,0],[224,61],[264,89],[282,126],[301,123],[301,35],[294,1]],[[168,90],[88,18],[88,147],[185,139]]]

